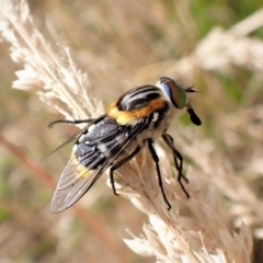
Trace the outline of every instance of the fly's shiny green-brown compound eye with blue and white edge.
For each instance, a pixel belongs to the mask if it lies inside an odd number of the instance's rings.
[[[183,108],[186,106],[186,92],[173,79],[162,77],[158,80],[157,87],[159,87],[163,91],[170,104],[172,104],[175,108]]]

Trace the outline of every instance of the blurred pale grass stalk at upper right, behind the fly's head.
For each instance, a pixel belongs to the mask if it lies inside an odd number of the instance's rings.
[[[227,31],[220,27],[211,30],[190,56],[139,68],[136,77],[140,81],[145,80],[144,76],[147,79],[158,78],[161,70],[163,75],[187,79],[193,78],[196,69],[217,70],[227,75],[232,65],[262,71],[263,42],[248,36],[262,25],[263,9]]]

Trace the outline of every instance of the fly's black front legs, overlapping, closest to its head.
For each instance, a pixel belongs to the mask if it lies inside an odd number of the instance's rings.
[[[174,160],[174,164],[178,169],[178,181],[183,190],[183,192],[186,194],[187,198],[190,198],[190,194],[187,193],[187,191],[185,190],[183,183],[182,183],[182,178],[188,183],[188,180],[183,175],[183,157],[181,156],[181,153],[179,152],[179,150],[175,148],[175,146],[173,145],[173,138],[171,135],[169,134],[163,134],[162,135],[163,140],[167,142],[167,145],[169,146],[169,148],[173,151],[173,160]],[[178,163],[178,159],[179,159],[179,163]]]

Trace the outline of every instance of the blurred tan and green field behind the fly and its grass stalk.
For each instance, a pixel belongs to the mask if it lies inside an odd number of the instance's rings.
[[[59,39],[70,47],[105,106],[161,76],[194,84],[199,92],[192,104],[203,125],[193,127],[193,136],[213,141],[209,155],[218,157],[218,165],[220,158],[227,159],[232,175],[241,176],[262,203],[263,27],[260,19],[247,20],[262,8],[261,1],[28,3],[39,31],[48,42]],[[20,67],[11,61],[7,43],[0,45],[0,134],[14,145],[7,148],[0,142],[0,262],[155,262],[136,255],[122,241],[126,228],[139,236],[147,218],[114,196],[106,178],[81,199],[83,209],[49,213],[54,180],[72,144],[44,157],[78,129],[68,125],[48,129],[48,123],[64,116],[34,93],[11,89]],[[178,122],[191,125],[185,115]],[[176,138],[176,123],[171,130]],[[256,219],[250,221],[252,228],[263,217]],[[260,240],[255,235],[254,262],[263,262]]]

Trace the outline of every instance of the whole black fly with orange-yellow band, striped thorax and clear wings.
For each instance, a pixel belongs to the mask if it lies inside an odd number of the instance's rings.
[[[191,121],[195,125],[201,125],[199,118],[190,105],[187,92],[195,90],[192,87],[183,89],[173,79],[163,77],[159,79],[157,85],[144,85],[128,91],[99,118],[58,121],[75,124],[87,122],[89,125],[73,146],[71,157],[54,193],[50,211],[59,213],[72,206],[107,168],[111,168],[111,184],[114,194],[117,195],[114,171],[133,159],[146,145],[156,163],[159,185],[170,209],[171,205],[162,187],[159,159],[153,147],[153,141],[159,137],[162,137],[172,150],[179,171],[178,181],[190,197],[181,181],[182,178],[186,180],[182,174],[183,158],[174,147],[173,138],[167,134],[174,110],[186,107]]]

